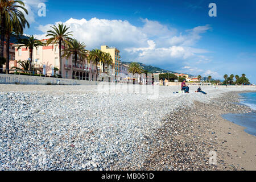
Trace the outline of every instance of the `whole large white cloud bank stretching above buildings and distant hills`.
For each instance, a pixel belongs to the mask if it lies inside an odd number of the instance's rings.
[[[190,72],[203,72],[192,68],[195,64],[208,63],[211,58],[205,56],[208,50],[197,48],[201,34],[210,30],[210,26],[194,27],[177,32],[160,22],[142,19],[142,26],[134,26],[127,20],[109,20],[92,18],[70,18],[64,23],[73,31],[73,37],[84,42],[87,49],[100,48],[101,45],[114,46],[121,51],[121,60],[139,61],[144,64],[167,65],[170,69],[180,69],[187,65]],[[40,25],[42,34],[38,39],[46,38],[47,30],[53,24]]]

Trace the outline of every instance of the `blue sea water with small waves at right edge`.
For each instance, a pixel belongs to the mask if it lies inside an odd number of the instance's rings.
[[[222,117],[237,125],[246,127],[245,132],[256,136],[256,92],[242,93],[241,104],[255,111],[247,114],[224,114]]]

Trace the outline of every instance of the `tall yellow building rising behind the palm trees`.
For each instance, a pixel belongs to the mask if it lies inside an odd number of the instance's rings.
[[[115,76],[120,73],[120,51],[115,47],[101,46],[101,51],[110,53],[113,59],[112,68],[115,69]]]

